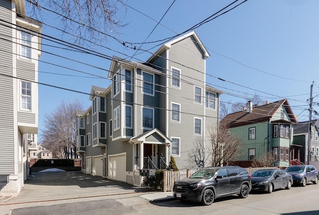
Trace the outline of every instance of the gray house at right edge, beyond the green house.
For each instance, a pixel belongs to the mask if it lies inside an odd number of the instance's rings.
[[[308,162],[308,140],[309,140],[309,128],[310,133],[310,162],[312,165],[317,163],[319,168],[319,120],[312,120],[311,122],[298,122],[294,128],[294,159],[304,164]]]

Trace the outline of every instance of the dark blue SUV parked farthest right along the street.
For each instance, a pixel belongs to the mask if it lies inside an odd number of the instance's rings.
[[[293,176],[294,183],[306,186],[307,182],[318,184],[318,171],[312,165],[297,165],[286,168],[286,172]]]

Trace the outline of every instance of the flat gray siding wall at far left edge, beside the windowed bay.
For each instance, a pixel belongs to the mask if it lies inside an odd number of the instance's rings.
[[[11,20],[11,1],[0,1],[0,19]],[[4,23],[0,21],[0,23]],[[6,23],[4,23],[7,25]],[[1,38],[12,39],[11,27],[0,27]],[[1,73],[12,75],[12,44],[1,39]],[[14,174],[13,79],[0,76],[0,174]]]

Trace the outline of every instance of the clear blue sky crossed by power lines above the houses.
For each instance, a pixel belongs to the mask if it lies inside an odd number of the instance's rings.
[[[243,0],[240,0],[241,2]],[[142,13],[160,20],[173,0],[128,0],[126,3]],[[231,3],[229,0],[175,0],[154,32],[147,39],[156,41],[181,33]],[[121,35],[112,34],[128,42],[144,42],[157,22],[128,7],[126,14],[119,10],[123,23]],[[210,53],[206,60],[207,82],[224,91],[221,101],[246,102],[247,95],[258,94],[271,102],[287,98],[299,120],[308,120],[310,86],[313,81],[314,102],[319,102],[319,1],[318,0],[248,0],[235,9],[201,25],[195,31]],[[124,16],[125,15],[125,16]],[[71,41],[56,28],[56,15],[42,10],[44,34]],[[42,40],[42,56],[39,62],[39,82],[90,93],[91,86],[107,87],[106,78],[92,78],[87,74],[58,67],[72,68],[107,77],[110,60],[65,49],[47,46]],[[92,49],[109,56],[132,56],[135,50],[125,48],[112,38]],[[150,49],[159,43],[144,44]],[[55,44],[56,46],[56,44]],[[159,46],[158,46],[159,47]],[[157,47],[157,48],[158,48]],[[155,52],[156,49],[150,50]],[[63,56],[57,57],[51,54]],[[121,54],[121,53],[123,54]],[[139,53],[139,52],[138,52]],[[135,61],[146,61],[150,53],[140,53]],[[66,59],[70,58],[73,60]],[[78,61],[78,62],[76,62]],[[84,65],[83,62],[89,65]],[[56,64],[56,65],[52,65]],[[62,73],[85,77],[62,76]],[[226,81],[222,81],[221,78]],[[50,114],[62,100],[79,99],[85,107],[89,96],[49,86],[39,85],[39,136],[43,129],[43,117]],[[314,106],[319,112],[319,105]],[[319,118],[319,116],[315,116]]]

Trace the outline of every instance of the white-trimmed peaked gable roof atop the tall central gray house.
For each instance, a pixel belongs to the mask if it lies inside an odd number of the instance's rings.
[[[195,31],[191,31],[189,33],[181,35],[181,36],[177,37],[176,39],[173,39],[173,40],[171,40],[169,42],[166,42],[163,45],[161,45],[160,48],[146,62],[150,62],[154,57],[160,55],[161,52],[163,52],[164,50],[170,48],[172,44],[174,44],[176,42],[179,42],[180,40],[185,39],[185,38],[190,37],[190,36],[193,36],[195,38],[195,41],[198,43],[199,47],[204,52],[205,59],[210,57],[210,54],[208,53],[208,51],[205,48],[205,46],[203,45],[203,43],[200,41],[200,39],[199,39],[198,35],[196,34],[196,32]]]

